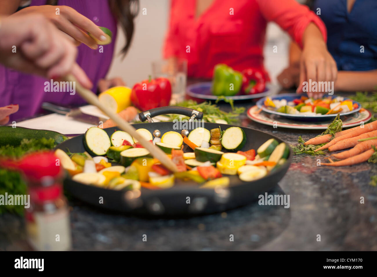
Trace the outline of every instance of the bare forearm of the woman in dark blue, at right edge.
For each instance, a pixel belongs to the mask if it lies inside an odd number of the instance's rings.
[[[337,91],[374,91],[377,89],[377,69],[370,71],[339,71]]]

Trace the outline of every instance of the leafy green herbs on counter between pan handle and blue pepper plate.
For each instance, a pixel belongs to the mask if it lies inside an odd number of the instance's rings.
[[[224,112],[222,111],[217,105],[211,104],[211,102],[202,102],[197,103],[193,100],[186,100],[180,103],[177,103],[177,106],[181,107],[187,107],[191,109],[196,109],[198,111],[203,112],[205,119],[208,122],[215,123],[216,120],[221,119],[225,120],[228,124],[235,123],[239,121],[239,115],[245,112],[244,107],[236,107],[234,108],[233,100],[226,99],[226,102],[228,102],[232,108],[231,112]],[[169,121],[172,121],[174,119],[179,119],[179,117],[182,117],[182,115],[172,114],[167,115],[169,117]]]

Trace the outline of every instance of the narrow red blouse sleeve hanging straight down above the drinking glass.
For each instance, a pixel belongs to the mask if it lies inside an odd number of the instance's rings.
[[[174,28],[175,26],[174,22],[176,20],[179,20],[179,18],[176,18],[175,16],[176,13],[174,12],[177,4],[178,3],[176,0],[171,0],[169,26],[168,26],[166,37],[165,37],[164,48],[162,50],[164,58],[169,58],[169,57],[178,55],[177,52],[178,52],[179,45],[178,45],[178,40],[176,39],[176,36],[175,36],[176,30]]]

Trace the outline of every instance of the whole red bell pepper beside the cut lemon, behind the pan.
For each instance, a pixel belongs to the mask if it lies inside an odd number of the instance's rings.
[[[136,83],[131,92],[133,105],[141,111],[169,106],[172,86],[167,78],[143,80]]]

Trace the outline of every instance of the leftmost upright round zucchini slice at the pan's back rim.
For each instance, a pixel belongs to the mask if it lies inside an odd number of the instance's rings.
[[[84,147],[90,155],[102,156],[111,146],[106,131],[98,127],[90,127],[84,134]]]

